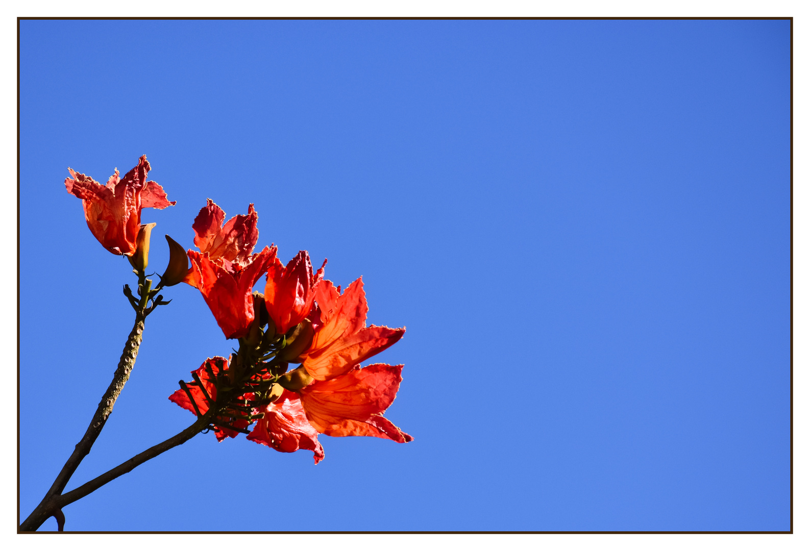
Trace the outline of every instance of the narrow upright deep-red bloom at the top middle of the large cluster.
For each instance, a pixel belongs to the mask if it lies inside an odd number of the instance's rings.
[[[309,253],[299,251],[285,267],[278,258],[267,269],[267,283],[264,287],[264,303],[267,314],[275,323],[277,333],[287,333],[288,329],[300,324],[312,309],[315,290],[323,279],[321,269],[313,273]]]

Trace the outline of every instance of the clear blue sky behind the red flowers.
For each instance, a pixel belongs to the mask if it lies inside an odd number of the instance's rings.
[[[407,326],[377,358],[416,440],[322,436],[314,466],[199,435],[67,529],[790,528],[789,22],[20,28],[23,518],[133,320],[66,167],[146,154],[177,201],[143,211],[153,269],[211,197],[363,276],[369,323]],[[193,422],[167,396],[228,354],[197,290],[166,295],[68,489]]]

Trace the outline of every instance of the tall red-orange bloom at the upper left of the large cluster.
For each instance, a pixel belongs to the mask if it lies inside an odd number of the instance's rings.
[[[194,218],[191,268],[184,282],[197,287],[216,323],[229,339],[244,337],[254,320],[253,286],[275,259],[276,248],[250,254],[258,239],[258,214],[251,203],[248,214],[238,214],[224,226],[225,213],[214,201]]]

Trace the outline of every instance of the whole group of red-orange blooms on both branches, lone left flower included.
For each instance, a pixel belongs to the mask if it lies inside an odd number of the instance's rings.
[[[143,156],[123,179],[116,170],[106,186],[72,170],[65,181],[67,191],[83,199],[96,239],[130,256],[142,278],[154,224],[140,223],[141,210],[175,204],[159,184],[146,181],[149,170]],[[405,329],[366,326],[362,279],[341,293],[323,278],[326,260],[314,270],[306,251],[287,265],[275,246],[254,253],[257,222],[252,204],[248,214],[226,223],[224,211],[208,199],[191,226],[198,250],[184,253],[166,236],[171,257],[158,289],[179,282],[196,287],[224,336],[239,341],[236,354],[207,358],[169,400],[204,420],[220,441],[244,433],[278,451],[313,451],[316,464],[324,456],[318,434],[410,442],[382,415],[399,390],[403,367],[360,367]],[[262,276],[264,292],[255,292]]]

